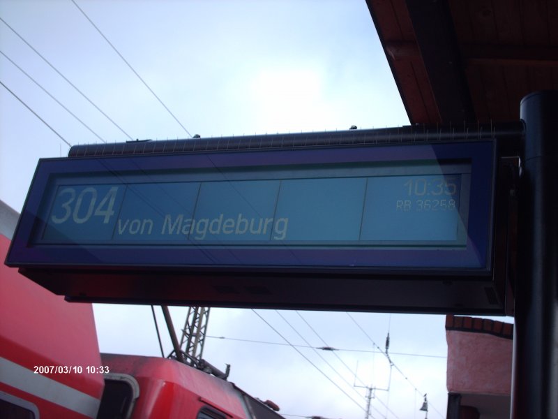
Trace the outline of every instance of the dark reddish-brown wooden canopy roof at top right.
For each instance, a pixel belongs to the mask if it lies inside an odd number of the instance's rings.
[[[366,2],[412,124],[517,121],[558,89],[558,2]]]

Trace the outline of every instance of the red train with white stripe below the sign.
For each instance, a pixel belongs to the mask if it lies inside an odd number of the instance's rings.
[[[2,260],[15,219],[0,201]],[[0,418],[282,418],[272,408],[176,360],[99,353],[91,304],[0,265]]]

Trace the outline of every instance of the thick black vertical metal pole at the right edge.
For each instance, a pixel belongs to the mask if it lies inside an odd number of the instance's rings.
[[[558,419],[558,91],[521,101],[511,418]]]

